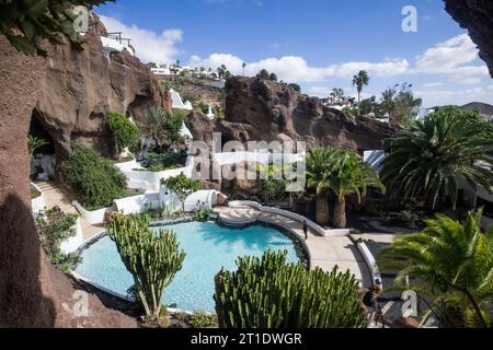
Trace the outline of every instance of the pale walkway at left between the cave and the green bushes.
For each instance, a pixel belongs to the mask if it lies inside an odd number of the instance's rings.
[[[62,212],[77,214],[79,213],[76,207],[72,206],[74,198],[69,192],[64,190],[60,186],[51,182],[37,182],[35,183],[45,197],[45,203],[47,209],[59,207]],[[81,218],[82,235],[84,240],[88,240],[99,234],[104,228],[91,225],[84,218]]]

